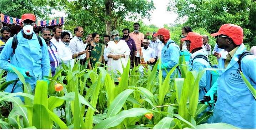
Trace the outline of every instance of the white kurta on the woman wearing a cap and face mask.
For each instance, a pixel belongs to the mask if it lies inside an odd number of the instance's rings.
[[[124,54],[125,58],[119,58],[118,60],[114,60],[113,58],[109,58],[107,61],[107,70],[108,71],[114,71],[116,73],[119,71],[121,74],[124,72],[122,65],[126,67],[126,64],[129,60],[130,56],[130,48],[128,47],[127,43],[124,40],[120,40],[118,43],[115,43],[114,41],[110,41],[107,43],[107,53],[106,56],[109,54],[111,55],[121,55]],[[117,70],[117,71],[116,71]]]

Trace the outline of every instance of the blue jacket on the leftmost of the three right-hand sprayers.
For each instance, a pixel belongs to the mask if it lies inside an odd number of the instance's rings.
[[[162,48],[162,55],[161,55],[161,63],[168,63],[168,67],[165,71],[165,69],[163,69],[162,71],[162,76],[165,78],[168,74],[168,72],[170,72],[170,70],[176,66],[179,63],[179,57],[180,57],[180,47],[178,45],[176,45],[176,43],[170,43],[170,42],[174,42],[173,40],[169,39],[169,41],[167,41],[166,45],[164,45],[164,47]],[[168,44],[170,43],[169,47],[167,48]],[[178,69],[176,69],[176,71],[174,73],[171,74],[171,78],[174,76],[175,73],[178,72]],[[179,72],[178,72],[179,73]],[[180,73],[179,73],[179,77]]]

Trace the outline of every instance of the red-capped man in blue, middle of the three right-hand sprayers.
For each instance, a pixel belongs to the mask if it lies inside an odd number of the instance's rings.
[[[182,38],[181,41],[186,41],[187,50],[191,53],[189,67],[192,70],[199,72],[204,68],[211,68],[205,49],[203,49],[202,35],[196,32],[189,32],[187,37]],[[210,72],[205,72],[199,82],[199,100],[203,100],[204,95],[211,88],[210,84],[206,83],[207,77],[210,76],[209,74]],[[209,80],[207,81],[209,82]]]

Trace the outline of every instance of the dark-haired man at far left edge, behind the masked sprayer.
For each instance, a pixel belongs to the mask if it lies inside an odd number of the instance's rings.
[[[5,43],[11,36],[11,29],[7,26],[4,26],[1,28],[0,32],[2,35],[2,37],[0,38],[0,53],[1,53]]]

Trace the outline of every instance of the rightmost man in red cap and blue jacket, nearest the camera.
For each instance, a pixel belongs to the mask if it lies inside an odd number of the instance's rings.
[[[226,59],[220,58],[219,68],[225,69],[219,71],[217,82],[206,93],[211,97],[208,103],[214,102],[214,94],[218,96],[211,121],[242,129],[256,129],[256,100],[240,74],[241,71],[256,89],[256,56],[249,54],[241,59],[246,51],[242,43],[243,29],[234,24],[224,24],[219,32],[211,36],[217,36],[218,47],[229,52]]]

